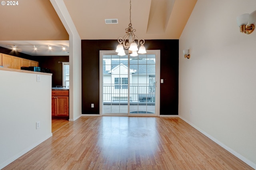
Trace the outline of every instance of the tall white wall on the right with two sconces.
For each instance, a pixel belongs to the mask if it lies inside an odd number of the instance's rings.
[[[179,116],[256,168],[256,31],[236,24],[254,10],[255,0],[197,1],[179,40]]]

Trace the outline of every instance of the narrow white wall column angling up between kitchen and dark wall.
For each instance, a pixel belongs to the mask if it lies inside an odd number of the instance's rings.
[[[50,0],[69,35],[69,121],[82,116],[81,38],[63,0]]]

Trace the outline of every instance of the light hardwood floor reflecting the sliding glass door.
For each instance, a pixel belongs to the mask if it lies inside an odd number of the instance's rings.
[[[80,117],[4,170],[253,170],[180,118]]]

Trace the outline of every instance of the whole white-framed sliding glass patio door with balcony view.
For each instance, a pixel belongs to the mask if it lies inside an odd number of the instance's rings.
[[[160,50],[136,57],[100,51],[100,115],[158,116],[159,76]]]

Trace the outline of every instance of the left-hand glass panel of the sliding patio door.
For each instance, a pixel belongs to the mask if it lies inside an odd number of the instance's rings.
[[[128,55],[103,55],[102,114],[128,114]]]

